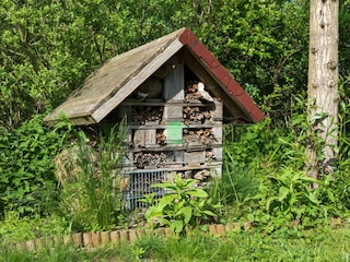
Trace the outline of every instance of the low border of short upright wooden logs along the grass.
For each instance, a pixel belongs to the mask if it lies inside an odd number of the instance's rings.
[[[241,230],[240,223],[234,224],[211,224],[208,225],[206,234],[212,236],[224,237],[229,231]],[[243,228],[244,229],[244,228]],[[11,249],[39,251],[40,249],[55,247],[58,245],[72,245],[75,248],[92,249],[100,248],[104,245],[120,243],[120,242],[135,242],[137,239],[150,235],[161,236],[163,238],[174,237],[175,234],[171,228],[162,227],[156,229],[121,229],[112,231],[94,231],[94,233],[75,233],[66,236],[52,236],[32,239],[23,242],[11,243],[8,247]]]

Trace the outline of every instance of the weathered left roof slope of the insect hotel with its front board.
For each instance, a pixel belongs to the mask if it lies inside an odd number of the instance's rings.
[[[70,97],[52,112],[51,120],[57,119],[59,110],[66,111],[69,118],[77,118],[77,115],[90,116],[90,114],[97,110],[95,114],[96,118],[93,118],[98,119],[96,122],[100,122],[128,96],[121,90],[126,90],[127,93],[132,93],[184,46],[178,40],[178,36],[183,32],[184,29],[176,31],[109,59],[102,68],[93,72],[85,80],[83,87],[74,91]],[[121,96],[119,96],[119,94]],[[112,102],[113,105],[110,107],[108,105],[105,107],[105,102],[110,102],[110,98],[116,98],[116,100]],[[75,105],[79,106],[71,110]],[[89,107],[90,109],[88,110],[88,108],[84,107]]]

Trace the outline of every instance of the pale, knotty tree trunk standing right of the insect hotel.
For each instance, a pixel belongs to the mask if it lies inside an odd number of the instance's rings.
[[[306,148],[308,175],[334,171],[338,144],[338,12],[339,0],[311,0],[308,50],[308,120],[325,146]],[[322,157],[319,158],[322,153]]]

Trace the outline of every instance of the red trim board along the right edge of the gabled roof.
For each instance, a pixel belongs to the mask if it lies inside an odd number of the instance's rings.
[[[264,119],[264,114],[254,104],[252,97],[243,90],[243,87],[232,78],[229,70],[226,70],[219,60],[199,41],[194,33],[185,28],[179,36],[179,41],[186,45],[198,58],[200,58],[207,69],[226,87],[228,94],[241,105],[242,108],[247,110],[252,119],[256,122]]]

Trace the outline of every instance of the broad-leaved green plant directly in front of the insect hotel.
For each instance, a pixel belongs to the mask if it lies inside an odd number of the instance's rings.
[[[196,179],[182,179],[174,176],[174,182],[155,183],[153,188],[162,188],[167,194],[161,199],[154,199],[149,194],[144,202],[149,209],[144,216],[151,227],[168,226],[178,236],[184,236],[186,229],[194,229],[206,222],[218,218],[217,211],[221,207],[213,204],[208,193],[196,186]]]

